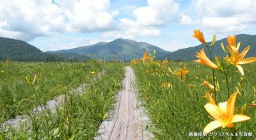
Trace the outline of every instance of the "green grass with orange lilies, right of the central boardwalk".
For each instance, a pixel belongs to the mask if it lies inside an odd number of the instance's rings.
[[[232,132],[234,134],[250,132],[253,137],[256,136],[256,107],[248,108],[248,104],[252,104],[256,98],[256,90],[253,88],[256,86],[255,64],[243,65],[246,78],[243,80],[242,87],[245,95],[237,94],[235,109],[235,114],[241,114],[239,110],[246,104],[244,114],[250,116],[251,119],[234,123],[235,127],[232,129],[217,128],[204,137],[198,135],[202,135],[204,127],[212,119],[204,107],[209,101],[203,96],[207,92],[214,94],[214,91],[209,91],[209,88],[200,85],[204,81],[213,83],[211,68],[195,62],[164,63],[160,61],[147,61],[147,63],[137,61],[136,64],[132,64],[132,68],[136,75],[139,96],[154,124],[149,125],[148,130],[154,134],[156,139],[232,139],[230,136],[219,136],[223,133],[231,135]],[[180,68],[184,71],[189,70],[189,72],[182,77],[179,75]],[[219,92],[216,93],[217,101],[218,103],[225,102],[229,98],[225,75],[218,70],[215,70],[215,75],[215,80],[219,85]],[[241,92],[237,84],[240,81],[241,75],[236,66],[229,66],[229,95],[236,91],[236,87]],[[215,134],[217,136],[214,136]],[[253,137],[238,135],[236,138],[253,139]]]

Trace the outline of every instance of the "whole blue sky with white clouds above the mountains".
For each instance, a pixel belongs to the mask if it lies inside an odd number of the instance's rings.
[[[256,0],[1,0],[0,36],[41,51],[72,49],[116,38],[166,51],[228,35],[255,35]]]

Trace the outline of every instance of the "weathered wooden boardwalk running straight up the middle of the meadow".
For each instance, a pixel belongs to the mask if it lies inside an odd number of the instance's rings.
[[[145,109],[136,100],[134,89],[135,76],[131,67],[125,67],[123,89],[115,96],[115,109],[109,113],[100,125],[94,139],[152,139],[152,134],[145,130],[150,123],[149,118],[143,114]],[[144,128],[144,129],[143,129]]]

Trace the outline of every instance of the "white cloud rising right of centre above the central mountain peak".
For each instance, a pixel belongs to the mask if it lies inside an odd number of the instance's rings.
[[[159,36],[159,26],[179,19],[179,4],[174,0],[148,0],[148,6],[136,8],[133,11],[135,20],[120,18],[118,31],[101,33],[102,38],[129,38],[136,36]]]

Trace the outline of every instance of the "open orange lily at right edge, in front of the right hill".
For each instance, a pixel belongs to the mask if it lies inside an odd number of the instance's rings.
[[[244,75],[244,70],[243,67],[241,66],[241,64],[247,64],[247,63],[252,63],[254,61],[256,61],[256,58],[246,58],[243,59],[244,56],[246,55],[246,53],[249,51],[250,46],[246,47],[240,54],[238,52],[239,47],[240,47],[241,43],[239,42],[237,44],[237,47],[235,47],[234,45],[228,45],[228,51],[230,52],[230,58],[227,56],[225,57],[225,59],[231,63],[232,65],[235,65],[239,72],[241,73],[241,75]]]

